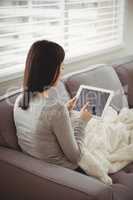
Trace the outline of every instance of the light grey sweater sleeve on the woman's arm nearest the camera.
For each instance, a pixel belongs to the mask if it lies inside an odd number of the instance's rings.
[[[69,111],[64,104],[58,104],[57,112],[54,112],[52,128],[60,147],[68,160],[78,163],[81,157],[80,140],[83,137],[87,122],[79,118],[77,126],[73,129]],[[75,136],[78,137],[75,137]]]

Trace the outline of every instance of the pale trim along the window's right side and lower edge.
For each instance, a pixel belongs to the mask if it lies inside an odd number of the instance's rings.
[[[133,55],[133,0],[126,0],[124,42],[124,47],[119,50],[95,57],[90,57],[88,59],[74,62],[72,64],[66,64],[64,73],[66,74],[71,71],[76,71],[78,69],[85,68],[88,65],[97,63],[110,64],[119,58]]]

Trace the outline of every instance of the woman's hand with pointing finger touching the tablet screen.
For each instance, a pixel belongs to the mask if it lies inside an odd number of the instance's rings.
[[[87,102],[80,110],[80,117],[84,121],[89,121],[92,118],[92,114],[87,110],[89,102]]]

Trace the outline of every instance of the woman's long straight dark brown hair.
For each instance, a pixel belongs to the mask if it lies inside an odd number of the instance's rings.
[[[41,40],[33,43],[26,59],[23,96],[19,102],[23,110],[28,109],[33,94],[54,85],[64,57],[64,49],[55,42]]]

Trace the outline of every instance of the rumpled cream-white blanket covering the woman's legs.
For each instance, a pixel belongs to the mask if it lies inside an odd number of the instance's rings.
[[[90,176],[112,184],[115,173],[133,161],[133,109],[119,115],[108,108],[103,121],[91,119],[87,127],[80,167]]]

